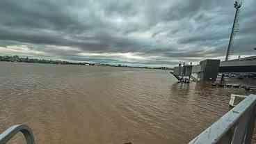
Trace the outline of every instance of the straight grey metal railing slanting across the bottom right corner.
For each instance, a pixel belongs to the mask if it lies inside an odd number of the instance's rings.
[[[189,144],[250,144],[255,110],[256,95],[249,95]]]

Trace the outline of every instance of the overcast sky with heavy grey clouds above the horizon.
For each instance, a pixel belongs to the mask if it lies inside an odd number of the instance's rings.
[[[223,59],[233,0],[1,0],[0,55],[134,66]],[[232,57],[255,55],[256,1],[243,1]]]

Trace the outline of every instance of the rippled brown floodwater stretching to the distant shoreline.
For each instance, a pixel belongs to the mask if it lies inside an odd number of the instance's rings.
[[[24,123],[37,144],[188,143],[229,111],[231,93],[254,92],[166,70],[0,63],[0,133]]]

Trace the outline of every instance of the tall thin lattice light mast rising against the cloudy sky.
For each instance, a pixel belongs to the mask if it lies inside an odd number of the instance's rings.
[[[234,2],[234,8],[236,8],[236,14],[234,15],[234,22],[233,22],[232,31],[231,31],[231,34],[230,34],[230,41],[228,42],[225,61],[228,61],[228,57],[230,56],[230,47],[232,46],[232,42],[234,40],[234,26],[237,23],[237,16],[238,16],[238,13],[239,13],[239,8],[241,8],[241,4],[239,4],[237,1],[235,1]]]

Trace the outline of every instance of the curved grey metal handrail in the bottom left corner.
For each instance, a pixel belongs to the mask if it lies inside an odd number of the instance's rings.
[[[22,134],[26,138],[27,144],[35,144],[33,132],[26,125],[14,125],[14,126],[10,127],[9,129],[6,129],[6,131],[4,131],[2,134],[0,134],[0,143],[1,144],[7,143],[18,132],[22,132]]]

